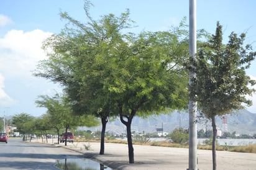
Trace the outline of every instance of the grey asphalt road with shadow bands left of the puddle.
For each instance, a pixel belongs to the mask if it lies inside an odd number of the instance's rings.
[[[9,138],[0,143],[0,169],[58,169],[57,159],[73,158],[82,154],[62,147],[39,143],[25,143],[19,138]]]

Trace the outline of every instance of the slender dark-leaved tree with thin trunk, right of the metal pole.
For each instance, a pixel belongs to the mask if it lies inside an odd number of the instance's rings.
[[[217,22],[216,34],[198,50],[191,68],[196,73],[191,94],[197,96],[199,108],[211,119],[213,127],[213,169],[216,169],[216,116],[252,104],[246,96],[255,91],[249,87],[255,81],[246,75],[245,69],[256,53],[251,45],[244,45],[244,40],[245,34],[238,36],[232,32],[229,42],[222,44],[222,26]]]

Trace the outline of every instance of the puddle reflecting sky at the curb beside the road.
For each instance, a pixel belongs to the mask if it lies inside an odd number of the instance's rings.
[[[104,164],[98,163],[96,161],[92,161],[88,158],[66,158],[57,160],[57,164],[55,165],[57,168],[67,170],[112,170]]]

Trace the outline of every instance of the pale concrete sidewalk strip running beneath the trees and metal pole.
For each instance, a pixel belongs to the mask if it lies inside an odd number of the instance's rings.
[[[33,142],[42,142],[34,139]],[[105,154],[99,155],[100,143],[74,142],[57,145],[57,140],[48,140],[49,144],[65,147],[94,159],[112,169],[188,169],[188,149],[160,146],[134,146],[134,164],[129,164],[128,146],[124,144],[105,143]],[[86,150],[85,146],[89,146]],[[216,151],[217,169],[250,169],[256,170],[256,154]],[[198,150],[198,169],[213,169],[212,154],[209,150]]]

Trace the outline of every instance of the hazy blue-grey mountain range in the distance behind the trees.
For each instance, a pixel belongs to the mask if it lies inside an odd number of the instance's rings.
[[[232,114],[227,114],[227,124],[222,123],[222,117],[216,117],[217,128],[227,132],[236,132],[237,134],[255,134],[256,133],[256,114],[252,114],[247,110],[239,110]],[[132,131],[136,133],[153,133],[156,128],[162,128],[164,132],[171,133],[175,128],[188,128],[188,113],[172,112],[170,114],[162,114],[152,116],[147,119],[134,117],[132,120]],[[198,120],[198,130],[207,128],[211,130],[211,121],[205,119]],[[86,128],[92,131],[101,130],[101,126],[94,128]],[[126,133],[126,127],[119,119],[107,123],[106,132],[110,133]]]

